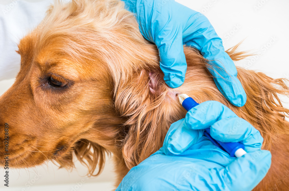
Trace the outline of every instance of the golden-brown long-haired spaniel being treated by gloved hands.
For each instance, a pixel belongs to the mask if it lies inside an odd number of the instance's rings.
[[[76,156],[88,165],[89,175],[99,165],[97,175],[108,152],[115,159],[118,185],[129,169],[162,146],[171,123],[185,116],[176,94],[186,93],[197,102],[222,102],[257,128],[263,148],[271,150],[272,165],[255,189],[288,189],[289,123],[284,117],[289,110],[277,97],[289,95],[285,79],[237,68],[247,102],[235,107],[218,91],[206,69],[210,62],[184,47],[186,79],[171,89],[162,79],[157,48],[143,39],[134,15],[118,0],[55,2],[18,49],[21,69],[0,97],[0,134],[4,142],[8,123],[10,167],[48,160],[73,167]],[[227,53],[233,60],[244,58],[235,48]],[[3,152],[0,158],[3,166]]]

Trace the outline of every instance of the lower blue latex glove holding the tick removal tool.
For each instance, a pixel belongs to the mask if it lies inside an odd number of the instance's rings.
[[[230,157],[214,146],[203,136],[208,127],[216,140],[244,144],[247,154]],[[262,142],[260,132],[225,105],[203,102],[171,125],[163,147],[133,167],[116,190],[252,190],[271,165]]]

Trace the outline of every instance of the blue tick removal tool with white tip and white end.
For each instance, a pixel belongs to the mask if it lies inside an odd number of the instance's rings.
[[[179,94],[179,101],[182,104],[182,106],[189,111],[192,109],[194,106],[199,105],[193,98],[190,98],[187,94]],[[226,143],[226,142],[221,142],[218,140],[215,140],[211,137],[210,135],[210,128],[206,128],[204,131],[204,134],[208,139],[217,147],[221,148],[222,150],[226,151],[229,153],[231,157],[241,157],[247,152],[244,150],[244,145],[239,143],[239,142],[233,142],[233,143]]]

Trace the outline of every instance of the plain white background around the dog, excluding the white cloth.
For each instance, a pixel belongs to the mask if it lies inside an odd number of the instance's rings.
[[[177,1],[207,16],[217,34],[223,39],[225,49],[244,40],[240,50],[249,50],[251,53],[258,54],[258,56],[236,62],[236,65],[250,70],[262,71],[273,78],[289,78],[289,61],[287,58],[289,50],[288,0]],[[38,1],[30,0],[30,2]],[[0,3],[9,4],[11,1],[0,0]],[[11,32],[13,33],[13,31]],[[15,70],[16,75],[18,69]],[[13,76],[11,78],[0,81],[0,95],[13,84],[14,78]],[[288,104],[286,107],[289,108]],[[9,189],[5,188],[3,183],[1,183],[0,189],[44,190],[38,186],[45,185],[47,190],[69,191],[72,190],[72,187],[78,188],[77,183],[79,184],[83,179],[82,182],[85,181],[85,183],[76,190],[112,190],[114,174],[111,162],[106,165],[103,173],[94,179],[81,177],[80,175],[85,175],[86,167],[78,162],[76,166],[77,170],[73,170],[73,172],[58,169],[52,163],[33,169],[10,170]],[[35,180],[37,178],[35,178],[36,172],[40,175],[38,180]],[[30,181],[30,184],[33,182],[30,188],[28,188],[28,181]]]

